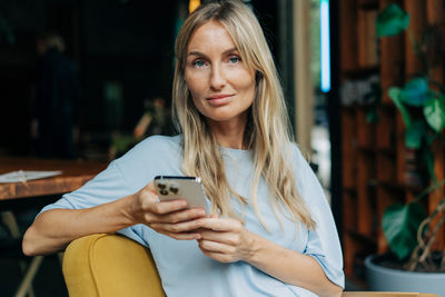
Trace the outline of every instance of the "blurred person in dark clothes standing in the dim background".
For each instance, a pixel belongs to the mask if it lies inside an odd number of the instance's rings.
[[[57,33],[37,38],[39,57],[31,137],[38,157],[72,159],[77,155],[79,85],[75,65],[63,55]]]

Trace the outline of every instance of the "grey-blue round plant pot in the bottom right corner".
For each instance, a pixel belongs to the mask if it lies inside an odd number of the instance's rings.
[[[386,255],[370,255],[365,259],[370,290],[431,293],[445,297],[445,274],[412,273],[378,265]]]

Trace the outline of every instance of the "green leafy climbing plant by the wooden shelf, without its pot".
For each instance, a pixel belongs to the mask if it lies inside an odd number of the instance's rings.
[[[436,179],[433,154],[434,149],[443,150],[445,143],[445,86],[431,77],[432,66],[442,55],[443,37],[436,24],[428,27],[422,38],[415,40],[408,24],[409,14],[397,4],[389,4],[379,12],[376,30],[379,38],[407,30],[416,58],[422,62],[422,71],[412,73],[403,87],[394,86],[385,91],[388,91],[405,123],[405,146],[422,156],[432,186],[412,201],[388,207],[383,215],[382,226],[390,250],[400,260],[406,260],[404,268],[445,271],[445,250],[439,253],[442,260],[435,260],[437,253],[432,250],[437,232],[445,222],[445,197],[429,216],[421,204],[429,192],[445,185],[445,180]]]

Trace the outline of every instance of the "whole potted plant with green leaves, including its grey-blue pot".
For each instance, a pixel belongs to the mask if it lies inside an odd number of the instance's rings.
[[[409,16],[397,4],[389,4],[377,17],[379,38],[396,36],[409,30]],[[389,206],[382,220],[390,256],[372,255],[366,258],[368,284],[372,290],[427,291],[445,296],[445,250],[434,250],[435,240],[442,236],[445,224],[445,197],[429,215],[422,205],[433,191],[442,191],[445,180],[434,172],[434,150],[444,150],[445,86],[434,81],[431,68],[436,57],[443,55],[441,26],[428,27],[421,40],[409,33],[423,71],[413,73],[403,87],[390,87],[388,96],[400,112],[405,123],[405,146],[415,151],[425,165],[427,182],[415,199]],[[442,42],[442,43],[441,43]],[[429,185],[429,186],[427,186]],[[418,285],[418,286],[417,286]],[[437,287],[434,287],[437,286]]]

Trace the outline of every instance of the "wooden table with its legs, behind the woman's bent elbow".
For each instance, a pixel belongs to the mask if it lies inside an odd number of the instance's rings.
[[[19,208],[39,204],[48,204],[48,197],[62,195],[80,188],[85,182],[103,170],[107,164],[75,160],[44,160],[36,158],[2,158],[0,157],[0,174],[17,170],[61,170],[55,177],[33,179],[23,182],[0,184],[0,219],[10,227],[13,238],[21,238],[19,225],[12,211]],[[53,198],[56,199],[56,198]],[[41,205],[39,205],[39,208]],[[19,241],[20,242],[20,241]],[[18,247],[20,249],[20,246]],[[26,276],[14,296],[26,296],[30,284],[39,269],[43,256],[33,257],[26,269]]]

